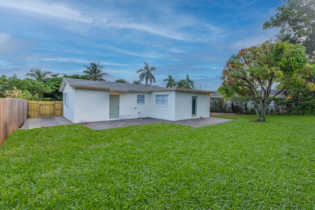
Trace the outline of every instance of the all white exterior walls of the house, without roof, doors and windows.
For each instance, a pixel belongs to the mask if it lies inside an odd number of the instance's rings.
[[[63,105],[63,116],[79,122],[117,120],[109,119],[109,96],[119,95],[119,119],[157,118],[185,120],[210,116],[210,94],[188,91],[111,92],[108,90],[71,88],[68,84],[68,106]],[[145,105],[137,105],[137,95],[145,95]],[[156,95],[168,95],[168,105],[156,105]],[[197,117],[191,117],[191,99],[197,97]],[[140,112],[140,113],[139,113]],[[139,113],[139,114],[138,114]]]

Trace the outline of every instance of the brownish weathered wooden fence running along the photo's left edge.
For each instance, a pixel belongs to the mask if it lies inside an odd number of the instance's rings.
[[[0,98],[0,145],[28,118],[27,100],[19,98]]]

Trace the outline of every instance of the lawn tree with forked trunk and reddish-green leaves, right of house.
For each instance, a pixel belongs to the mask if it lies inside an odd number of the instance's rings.
[[[266,41],[244,48],[226,62],[218,91],[224,98],[235,93],[250,94],[259,121],[265,121],[266,106],[274,99],[270,100],[269,95],[275,82],[282,83],[283,90],[290,83],[307,83],[315,90],[314,83],[302,79],[307,62],[305,47],[299,44]]]

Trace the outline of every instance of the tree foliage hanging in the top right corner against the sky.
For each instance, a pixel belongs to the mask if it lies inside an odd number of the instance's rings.
[[[280,37],[306,47],[306,54],[315,59],[315,0],[284,0],[279,11],[263,24],[263,29],[281,28]]]

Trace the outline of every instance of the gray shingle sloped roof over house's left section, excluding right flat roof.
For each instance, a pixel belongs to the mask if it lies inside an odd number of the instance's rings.
[[[146,92],[152,89],[157,89],[157,86],[145,86],[145,85],[134,85],[134,84],[126,84],[126,83],[116,83],[116,82],[63,78],[63,82],[59,91],[62,91],[65,85],[63,84],[64,81],[68,83],[70,87],[75,87],[75,88],[100,89],[100,90],[110,90],[110,91],[120,91],[120,92],[127,92],[127,91],[145,91]]]

